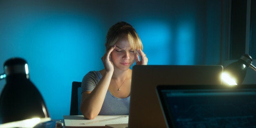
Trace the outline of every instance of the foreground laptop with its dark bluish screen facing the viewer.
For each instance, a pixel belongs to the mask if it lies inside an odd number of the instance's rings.
[[[254,128],[256,84],[157,86],[168,128]]]

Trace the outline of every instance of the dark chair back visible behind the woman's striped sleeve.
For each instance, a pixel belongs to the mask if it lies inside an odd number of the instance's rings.
[[[72,82],[71,104],[70,104],[69,115],[82,115],[80,111],[80,102],[81,102],[81,93],[82,93],[81,84],[82,82]]]

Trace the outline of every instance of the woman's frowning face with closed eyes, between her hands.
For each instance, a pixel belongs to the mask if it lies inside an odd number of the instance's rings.
[[[115,68],[121,70],[128,70],[135,62],[135,50],[130,47],[126,35],[121,35],[117,40],[116,47],[111,52],[111,60]]]

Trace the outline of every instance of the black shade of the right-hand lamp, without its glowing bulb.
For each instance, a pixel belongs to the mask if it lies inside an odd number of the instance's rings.
[[[252,57],[248,54],[244,54],[239,58],[238,61],[231,63],[226,66],[223,70],[223,73],[228,74],[236,84],[242,84],[245,79],[247,68],[252,64]]]

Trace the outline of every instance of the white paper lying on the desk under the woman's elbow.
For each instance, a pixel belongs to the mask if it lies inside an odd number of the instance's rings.
[[[85,119],[83,115],[64,115],[65,128],[93,127],[105,128],[108,124],[128,124],[128,115],[98,115],[95,119]]]

